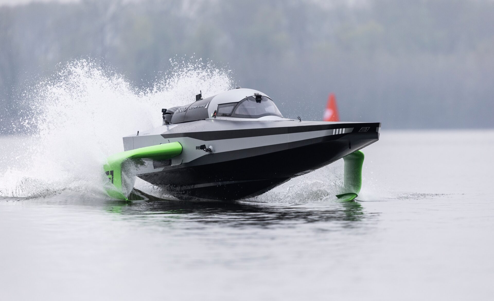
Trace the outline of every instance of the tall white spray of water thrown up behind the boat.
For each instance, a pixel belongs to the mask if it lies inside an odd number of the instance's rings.
[[[26,90],[15,134],[0,138],[0,195],[33,198],[68,189],[105,197],[102,166],[123,151],[122,136],[161,125],[162,108],[188,103],[200,89],[214,95],[235,84],[231,71],[201,59],[170,62],[147,90],[87,60]]]

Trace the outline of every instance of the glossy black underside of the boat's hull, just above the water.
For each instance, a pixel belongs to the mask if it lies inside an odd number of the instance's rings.
[[[378,133],[349,133],[309,145],[139,175],[179,199],[239,200],[260,195],[292,177],[314,171],[378,140]],[[240,150],[239,150],[240,151]],[[245,150],[244,150],[245,151]]]

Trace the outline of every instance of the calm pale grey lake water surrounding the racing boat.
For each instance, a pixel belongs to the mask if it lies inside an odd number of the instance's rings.
[[[0,300],[494,298],[493,130],[383,130],[351,203],[339,161],[247,201],[124,204],[19,176],[29,141],[0,143]]]

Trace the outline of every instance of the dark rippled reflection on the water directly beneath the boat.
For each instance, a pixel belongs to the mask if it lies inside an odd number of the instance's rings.
[[[272,227],[293,223],[360,221],[366,217],[360,202],[270,204],[221,201],[110,202],[111,213],[153,221],[183,220],[232,227]],[[348,224],[351,226],[351,224]]]

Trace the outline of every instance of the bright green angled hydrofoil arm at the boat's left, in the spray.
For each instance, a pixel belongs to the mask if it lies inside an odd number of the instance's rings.
[[[131,149],[111,155],[107,159],[108,163],[103,166],[103,169],[112,184],[105,185],[106,193],[111,198],[117,200],[129,200],[129,196],[132,196],[135,176],[131,175],[128,178],[125,178],[123,171],[127,168],[132,168],[132,166],[127,163],[132,163],[131,161],[133,159],[153,159],[161,161],[171,159],[181,153],[182,145],[179,142],[171,142]],[[143,164],[142,161],[134,161],[133,163]]]

